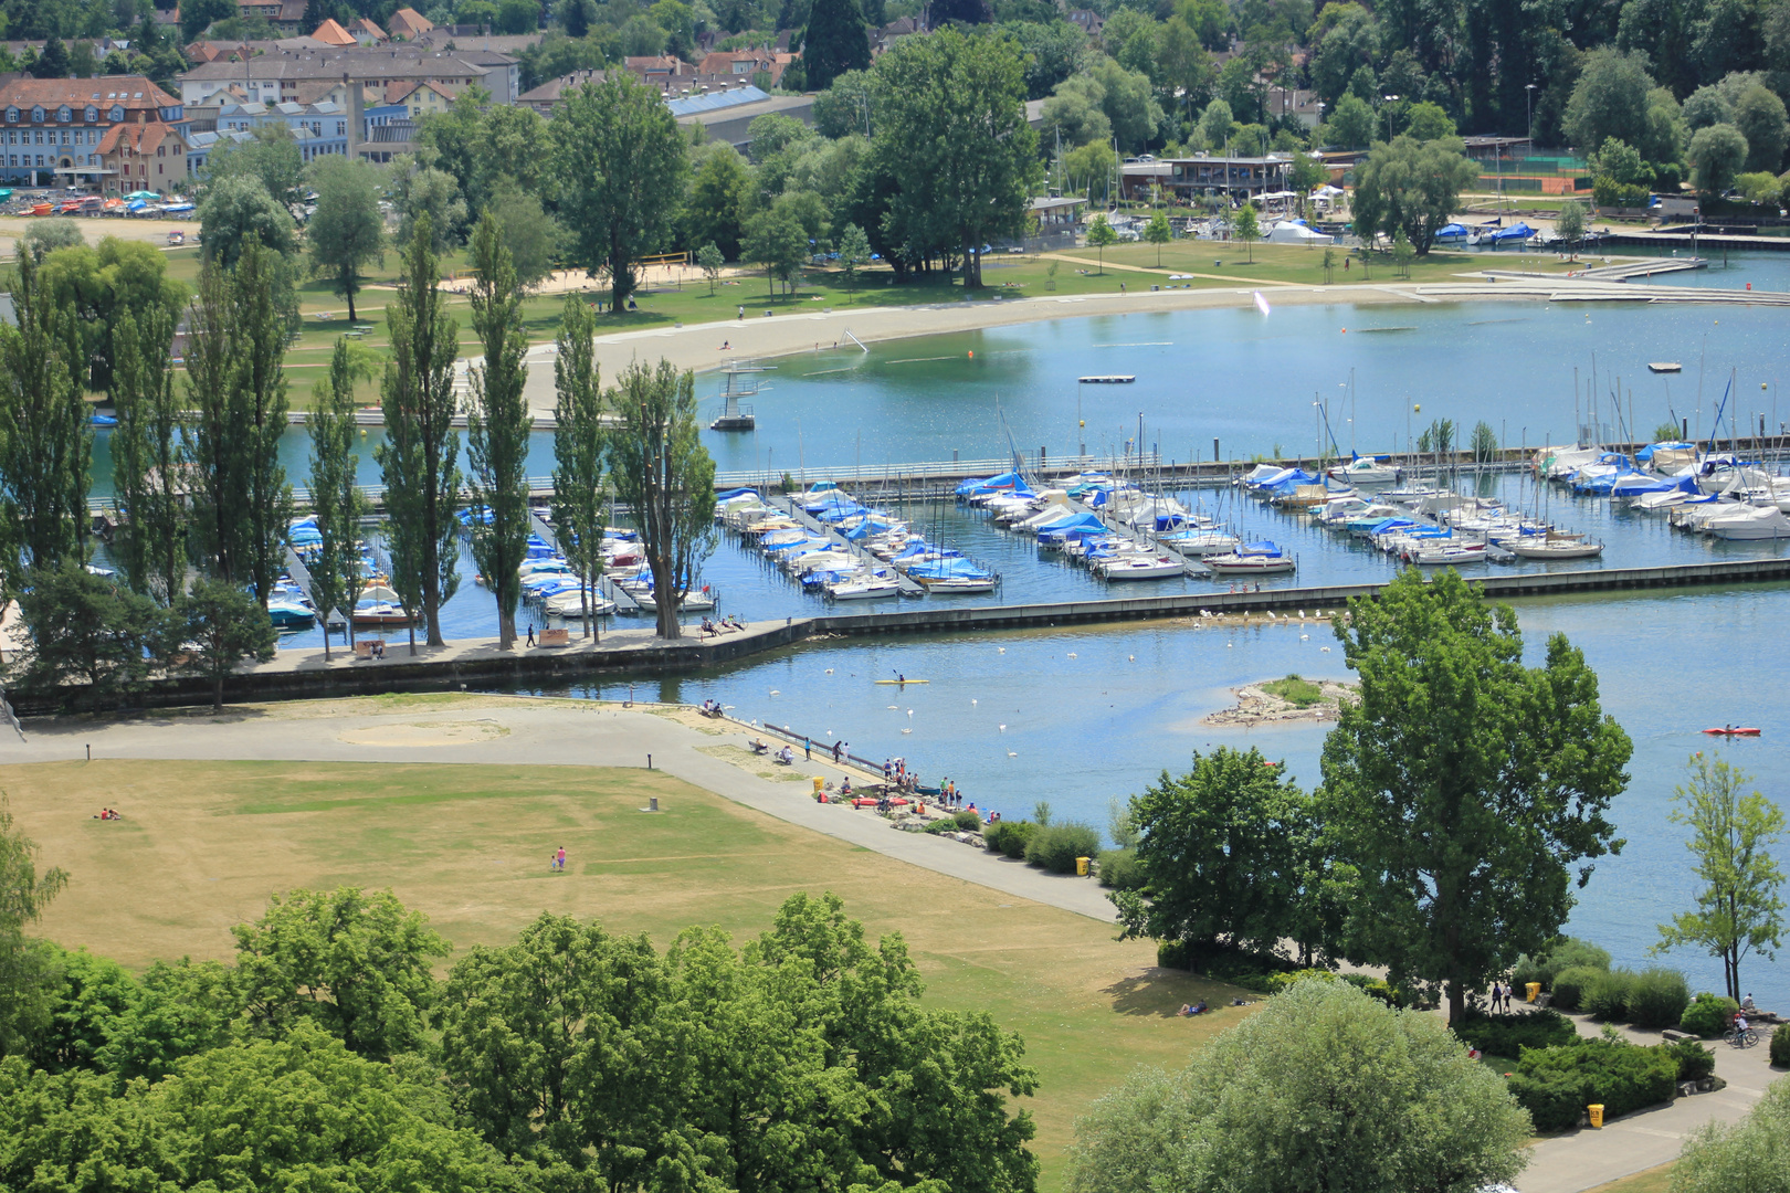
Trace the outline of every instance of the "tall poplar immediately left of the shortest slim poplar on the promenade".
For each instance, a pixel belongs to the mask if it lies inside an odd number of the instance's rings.
[[[292,520],[292,487],[279,463],[279,440],[286,433],[286,320],[279,293],[286,286],[285,261],[251,236],[231,275],[231,309],[236,318],[233,406],[242,417],[238,451],[245,472],[249,506],[247,580],[267,608],[274,581],[286,563],[286,526]]]

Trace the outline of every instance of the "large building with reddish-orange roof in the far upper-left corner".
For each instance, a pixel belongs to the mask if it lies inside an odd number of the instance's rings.
[[[61,182],[93,191],[115,191],[115,166],[106,163],[107,136],[124,127],[156,127],[149,148],[163,152],[156,161],[163,170],[132,170],[132,177],[172,184],[186,177],[186,150],[168,154],[165,140],[175,143],[184,120],[181,100],[141,75],[106,75],[100,79],[25,79],[0,75],[0,179],[11,184],[50,186]],[[143,165],[143,136],[127,141],[132,166]],[[118,138],[113,138],[113,145]],[[154,156],[154,154],[152,154]],[[175,161],[177,159],[177,161]],[[179,172],[174,166],[179,165]],[[125,190],[145,190],[131,186]]]

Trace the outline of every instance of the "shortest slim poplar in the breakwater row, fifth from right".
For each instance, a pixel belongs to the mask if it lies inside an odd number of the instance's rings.
[[[347,340],[337,340],[329,358],[329,376],[317,383],[317,408],[310,417],[311,433],[311,515],[322,546],[310,565],[311,601],[324,619],[324,660],[329,658],[329,610],[347,619],[347,640],[354,642],[354,603],[367,578],[360,569],[354,537],[367,512],[360,492],[360,456],[354,453],[354,368]]]

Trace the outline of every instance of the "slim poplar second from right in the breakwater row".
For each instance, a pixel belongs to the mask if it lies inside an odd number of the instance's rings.
[[[591,637],[591,605],[603,572],[603,393],[596,367],[596,315],[566,295],[553,347],[553,524],[560,553],[578,576],[578,612]]]

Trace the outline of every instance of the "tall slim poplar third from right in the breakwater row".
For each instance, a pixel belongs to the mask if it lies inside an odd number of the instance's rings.
[[[467,449],[473,460],[473,558],[498,597],[498,649],[516,646],[516,606],[523,597],[517,569],[528,554],[528,429],[523,399],[528,333],[516,265],[490,209],[473,233],[473,329],[485,361],[471,368],[473,410]],[[487,517],[489,515],[489,517]]]

